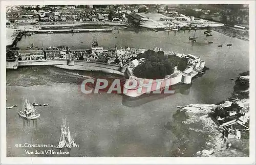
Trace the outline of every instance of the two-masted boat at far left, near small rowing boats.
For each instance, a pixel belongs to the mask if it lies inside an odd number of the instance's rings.
[[[18,111],[18,115],[25,119],[37,119],[40,117],[40,113],[36,113],[36,109],[25,99],[25,108]]]

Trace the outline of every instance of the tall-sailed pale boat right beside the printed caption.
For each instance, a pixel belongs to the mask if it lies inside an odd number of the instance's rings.
[[[71,138],[70,128],[66,122],[66,119],[62,119],[61,135],[59,139],[58,148],[71,148],[75,144],[75,140]]]

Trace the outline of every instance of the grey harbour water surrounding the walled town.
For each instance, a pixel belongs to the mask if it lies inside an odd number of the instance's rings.
[[[190,36],[193,35],[194,31],[191,31]],[[77,75],[117,77],[114,75],[49,66],[8,70],[7,106],[16,104],[18,107],[7,110],[7,156],[29,156],[25,154],[24,148],[15,147],[17,143],[57,144],[63,116],[67,117],[71,136],[79,148],[73,148],[69,155],[33,156],[177,156],[172,148],[177,132],[174,134],[164,127],[173,119],[178,109],[176,106],[221,102],[233,91],[234,81],[230,79],[249,70],[248,41],[215,31],[212,35],[205,37],[203,31],[197,31],[195,43],[188,42],[189,31],[114,30],[112,33],[36,34],[24,37],[18,45],[22,49],[32,43],[44,47],[69,45],[71,49],[89,49],[94,36],[104,48],[127,45],[153,49],[157,46],[165,51],[200,56],[210,69],[202,77],[193,80],[186,95],[176,93],[148,99],[147,103],[134,104],[136,106],[133,107],[123,105],[121,95],[84,95],[79,91],[79,83],[84,77]],[[208,44],[208,41],[214,43]],[[226,46],[227,43],[232,43],[232,46]],[[219,44],[223,44],[223,47],[218,48]],[[36,122],[25,122],[17,115],[22,98],[28,98],[31,102],[36,98],[36,102],[50,105],[37,107],[41,116]],[[183,130],[179,131],[182,133]],[[204,143],[203,140],[201,143]],[[197,151],[189,149],[184,152],[186,156],[192,156],[191,153]]]

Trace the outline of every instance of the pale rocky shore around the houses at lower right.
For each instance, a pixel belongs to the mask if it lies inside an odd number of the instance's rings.
[[[189,104],[186,106],[182,106],[177,110],[174,118],[180,116],[185,113],[187,118],[179,123],[188,127],[190,131],[195,131],[197,135],[204,136],[202,139],[203,143],[200,143],[200,147],[198,147],[198,152],[194,154],[197,157],[226,157],[226,156],[249,156],[249,133],[245,132],[245,130],[241,129],[241,139],[236,138],[227,138],[228,130],[227,127],[222,124],[228,123],[227,119],[231,118],[229,116],[225,117],[225,122],[222,120],[217,120],[218,115],[220,116],[220,110],[224,110],[225,113],[229,112],[234,105],[238,105],[240,108],[249,109],[249,89],[247,89],[247,83],[249,83],[249,79],[247,79],[248,72],[240,74],[234,85],[234,90],[231,93],[231,96],[236,96],[239,100],[226,99],[222,103],[218,104]],[[248,82],[247,82],[248,81]],[[247,83],[245,83],[247,82]],[[248,90],[248,91],[247,91]],[[246,92],[246,93],[245,93]],[[232,105],[227,106],[229,103]],[[225,105],[225,106],[224,106]],[[223,108],[225,107],[225,109]],[[219,110],[220,109],[220,110]],[[218,114],[218,115],[217,115]],[[217,117],[216,117],[217,115]],[[233,115],[233,117],[236,115]],[[243,116],[244,117],[244,116]],[[226,121],[227,120],[227,121]],[[240,118],[239,118],[240,120]],[[246,121],[246,120],[245,120]],[[222,124],[221,124],[222,123]],[[172,125],[174,123],[168,122],[165,126],[167,129],[173,129]],[[245,122],[245,125],[249,127],[248,121]],[[235,123],[234,128],[239,128],[239,124]],[[228,127],[230,128],[230,126]],[[179,140],[179,139],[177,139]],[[228,146],[231,144],[230,146]],[[243,144],[243,145],[241,145]],[[184,144],[186,145],[186,144]],[[238,149],[239,151],[236,151]]]

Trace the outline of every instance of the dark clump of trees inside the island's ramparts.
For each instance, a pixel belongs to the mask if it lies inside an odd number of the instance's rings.
[[[185,70],[187,67],[187,59],[180,58],[175,55],[165,56],[162,51],[147,50],[139,55],[139,58],[145,58],[146,61],[135,67],[134,75],[140,78],[162,79],[166,75],[174,73],[174,67],[178,66],[178,70]]]

